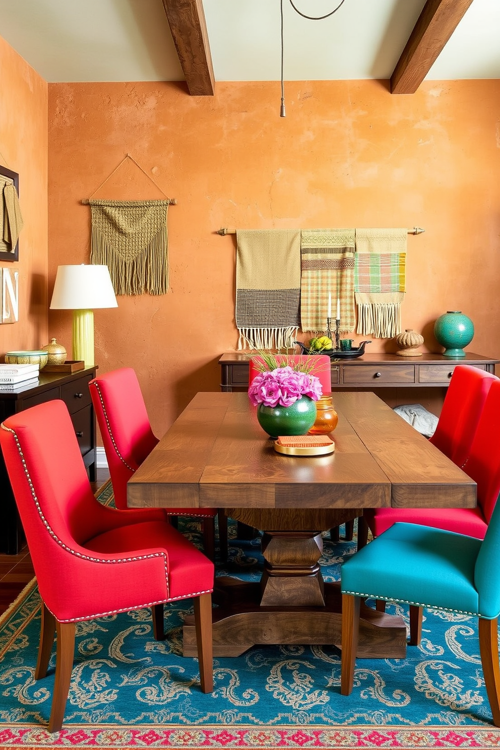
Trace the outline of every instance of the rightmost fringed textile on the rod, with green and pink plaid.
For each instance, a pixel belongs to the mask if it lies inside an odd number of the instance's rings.
[[[407,236],[406,229],[356,229],[358,334],[392,338],[400,333]]]

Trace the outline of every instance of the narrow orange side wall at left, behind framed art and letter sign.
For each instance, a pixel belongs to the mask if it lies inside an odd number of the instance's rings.
[[[0,163],[19,174],[24,227],[19,323],[0,326],[0,361],[10,350],[39,349],[47,333],[47,84],[0,37]]]

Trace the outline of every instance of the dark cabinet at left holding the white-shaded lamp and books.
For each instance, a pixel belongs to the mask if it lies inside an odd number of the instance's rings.
[[[96,430],[94,407],[88,390],[97,368],[76,373],[44,373],[40,371],[37,385],[19,385],[15,390],[0,387],[0,421],[25,409],[60,398],[67,405],[82,452],[83,462],[91,481],[96,480]],[[24,541],[16,502],[0,453],[0,553],[16,554]]]

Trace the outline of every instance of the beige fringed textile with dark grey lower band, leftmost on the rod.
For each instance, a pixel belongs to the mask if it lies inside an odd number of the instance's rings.
[[[300,294],[300,230],[237,229],[238,349],[294,349]]]

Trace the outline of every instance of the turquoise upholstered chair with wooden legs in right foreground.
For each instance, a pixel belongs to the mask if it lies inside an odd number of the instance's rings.
[[[493,723],[500,726],[500,503],[484,540],[416,523],[395,523],[341,568],[342,676],[349,695],[355,673],[362,598],[409,604],[410,644],[421,637],[422,607],[479,618],[479,646]]]

